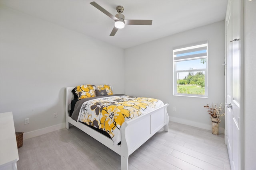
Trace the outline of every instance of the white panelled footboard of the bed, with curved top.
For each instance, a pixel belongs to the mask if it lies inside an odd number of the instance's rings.
[[[126,121],[122,124],[121,135],[121,169],[128,170],[128,158],[136,149],[143,145],[157,131],[164,127],[168,131],[168,104],[145,115]]]

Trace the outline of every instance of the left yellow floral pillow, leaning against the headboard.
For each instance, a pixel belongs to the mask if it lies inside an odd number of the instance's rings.
[[[84,99],[84,98],[96,97],[94,85],[87,84],[87,85],[76,86],[75,91],[78,96],[78,100]]]

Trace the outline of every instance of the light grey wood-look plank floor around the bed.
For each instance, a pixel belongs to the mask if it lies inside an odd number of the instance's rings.
[[[120,156],[72,126],[23,141],[18,170],[120,170]],[[230,170],[224,134],[170,122],[129,156],[129,170]]]

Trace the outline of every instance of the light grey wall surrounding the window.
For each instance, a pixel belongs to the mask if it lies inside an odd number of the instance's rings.
[[[203,106],[225,100],[224,30],[224,21],[220,21],[125,49],[125,93],[159,98],[169,104],[170,121],[211,129],[210,116]],[[208,40],[208,98],[173,96],[172,48],[205,40]],[[224,122],[222,117],[222,133]]]

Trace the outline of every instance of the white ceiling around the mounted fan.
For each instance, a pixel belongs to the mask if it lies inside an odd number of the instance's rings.
[[[114,37],[114,20],[92,6],[95,1],[115,15],[124,6],[127,20],[153,20],[152,25],[126,25]],[[228,0],[0,0],[0,4],[61,25],[112,45],[128,48],[222,21]]]

